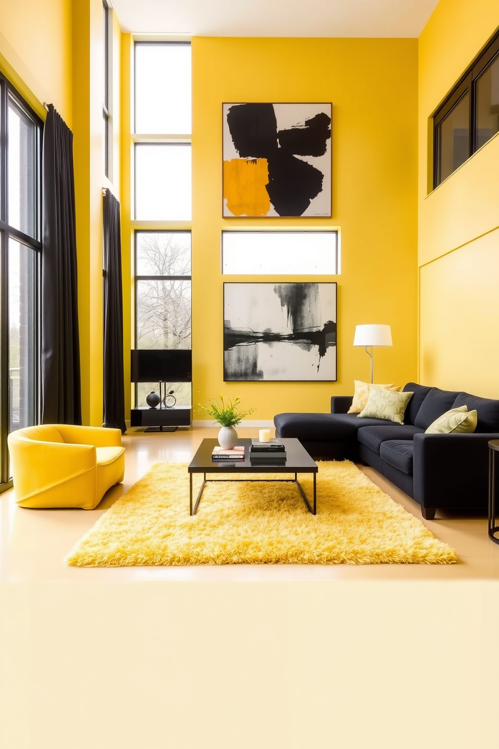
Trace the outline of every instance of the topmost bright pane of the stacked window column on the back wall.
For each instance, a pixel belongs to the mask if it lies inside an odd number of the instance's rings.
[[[135,133],[191,128],[191,45],[135,43]]]

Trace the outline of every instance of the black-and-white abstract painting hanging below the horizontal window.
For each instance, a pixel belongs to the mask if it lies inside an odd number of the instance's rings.
[[[336,380],[335,283],[224,283],[224,381]]]

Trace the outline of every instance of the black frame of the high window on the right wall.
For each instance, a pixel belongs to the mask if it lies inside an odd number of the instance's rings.
[[[451,109],[465,96],[469,94],[469,148],[468,159],[473,156],[482,146],[477,147],[476,130],[477,130],[477,92],[476,82],[486,67],[492,62],[493,58],[499,54],[499,31],[487,41],[474,58],[468,68],[460,77],[456,85],[444,97],[444,100],[438,105],[432,114],[432,131],[433,131],[433,159],[432,159],[432,189],[438,187],[443,182],[439,175],[440,154],[438,149],[438,126],[444,121]],[[494,136],[492,136],[494,137]],[[486,144],[484,144],[486,145]],[[456,171],[456,170],[454,170]],[[451,172],[453,174],[453,172]],[[450,176],[450,175],[449,175]]]

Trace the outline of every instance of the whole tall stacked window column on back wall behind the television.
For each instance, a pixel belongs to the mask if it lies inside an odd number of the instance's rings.
[[[135,42],[134,88],[135,348],[190,349],[190,44]],[[190,383],[167,386],[191,405]],[[151,389],[137,386],[136,405]]]

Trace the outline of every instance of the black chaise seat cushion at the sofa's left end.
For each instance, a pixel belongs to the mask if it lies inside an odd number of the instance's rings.
[[[274,417],[280,437],[300,442],[356,440],[361,426],[386,424],[382,419],[359,419],[356,413],[278,413]]]

